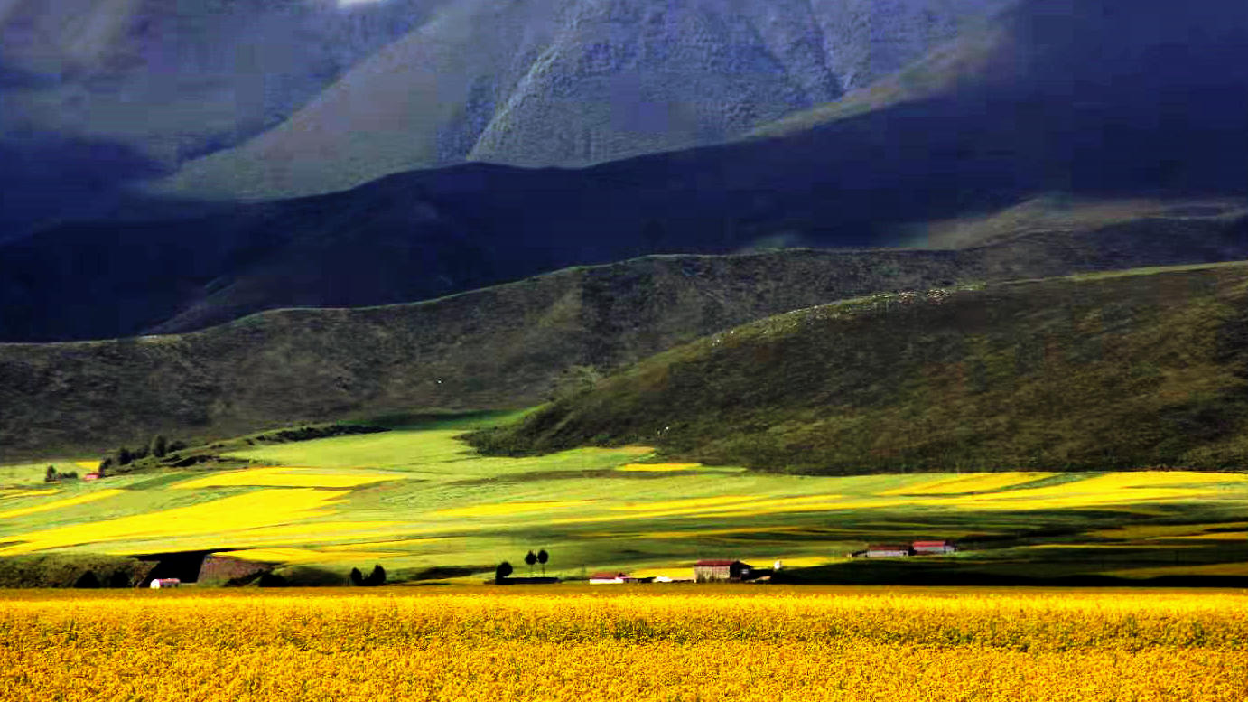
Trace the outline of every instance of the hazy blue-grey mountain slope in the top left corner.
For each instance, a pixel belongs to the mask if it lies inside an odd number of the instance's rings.
[[[0,241],[281,124],[432,5],[0,0]]]

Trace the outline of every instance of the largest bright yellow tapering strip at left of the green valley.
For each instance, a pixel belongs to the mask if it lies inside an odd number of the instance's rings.
[[[80,497],[100,500],[109,496],[105,493],[117,492],[121,491],[104,490]],[[16,535],[14,538],[20,540],[21,543],[0,548],[0,556],[29,553],[45,548],[62,548],[77,543],[136,538],[175,538],[195,535],[211,536],[238,530],[278,527],[288,522],[329,515],[333,512],[333,503],[343,496],[344,493],[342,492],[310,488],[260,490],[190,507],[176,507],[146,515],[76,523]],[[62,505],[71,500],[61,500],[52,505]],[[75,503],[81,503],[81,501]],[[45,507],[51,508],[52,506],[49,505]],[[21,510],[17,511],[20,512]],[[305,533],[310,531],[308,526],[300,526],[300,528]]]

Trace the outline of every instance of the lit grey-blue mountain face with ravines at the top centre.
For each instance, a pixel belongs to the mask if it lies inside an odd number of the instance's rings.
[[[1013,0],[458,0],[163,192],[275,199],[463,160],[718,144],[870,85]]]

